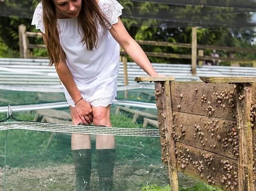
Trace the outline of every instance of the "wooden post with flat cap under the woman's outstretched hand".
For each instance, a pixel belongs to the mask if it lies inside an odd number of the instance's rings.
[[[172,190],[178,191],[179,189],[177,176],[177,161],[175,154],[175,141],[172,136],[172,131],[174,129],[170,87],[171,81],[175,81],[175,77],[137,77],[135,78],[135,81],[156,82],[155,94],[156,107],[158,108],[158,125],[161,136],[160,139],[164,139],[164,144],[161,144],[162,160],[164,162],[167,162],[168,164],[169,179],[172,186]]]

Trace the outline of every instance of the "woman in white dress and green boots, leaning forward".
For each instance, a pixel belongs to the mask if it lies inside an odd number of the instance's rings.
[[[150,76],[159,76],[130,37],[116,0],[42,0],[32,24],[43,33],[50,65],[62,81],[72,123],[111,127],[110,105],[116,97],[119,45]],[[89,135],[72,134],[77,190],[90,189]],[[114,136],[97,135],[100,190],[113,189]]]

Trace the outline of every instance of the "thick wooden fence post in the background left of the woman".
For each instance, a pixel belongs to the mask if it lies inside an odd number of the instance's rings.
[[[28,57],[28,43],[26,37],[26,26],[19,25],[19,43],[20,43],[20,57],[27,58]]]

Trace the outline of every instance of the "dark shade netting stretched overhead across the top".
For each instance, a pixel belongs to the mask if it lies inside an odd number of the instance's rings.
[[[0,15],[31,19],[39,1],[1,0]],[[122,19],[132,19],[132,25],[154,27],[254,27],[254,0],[130,0]]]

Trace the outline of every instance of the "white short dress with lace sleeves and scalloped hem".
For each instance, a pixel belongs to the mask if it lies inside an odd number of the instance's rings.
[[[116,0],[99,0],[99,7],[111,25],[118,22],[124,8]],[[67,66],[82,97],[94,107],[112,104],[117,96],[119,44],[109,30],[98,23],[98,44],[93,51],[88,51],[86,45],[82,46],[77,18],[57,19],[57,23]],[[32,25],[45,33],[42,3],[35,9]],[[68,104],[74,107],[74,101],[62,86]]]

